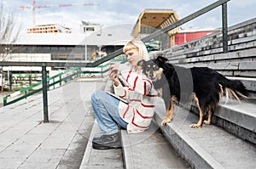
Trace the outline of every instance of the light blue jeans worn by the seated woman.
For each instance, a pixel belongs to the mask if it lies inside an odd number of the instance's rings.
[[[102,134],[116,133],[119,131],[119,126],[127,128],[127,123],[119,115],[119,99],[102,90],[96,90],[90,98]]]

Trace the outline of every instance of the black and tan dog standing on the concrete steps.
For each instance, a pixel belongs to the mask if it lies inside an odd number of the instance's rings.
[[[167,63],[162,54],[157,59],[138,62],[143,73],[152,80],[154,88],[166,104],[166,118],[162,125],[173,118],[175,104],[187,104],[195,100],[200,118],[190,127],[201,128],[202,123],[211,124],[212,113],[225,93],[226,99],[247,99],[247,90],[237,80],[229,80],[216,70],[207,67],[184,68]],[[204,116],[207,115],[207,121]]]

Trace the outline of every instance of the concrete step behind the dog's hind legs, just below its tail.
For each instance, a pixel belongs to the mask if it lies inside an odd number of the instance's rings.
[[[198,113],[197,107],[191,110]],[[256,104],[252,101],[241,100],[220,101],[218,110],[214,112],[212,124],[224,128],[241,139],[256,145]]]

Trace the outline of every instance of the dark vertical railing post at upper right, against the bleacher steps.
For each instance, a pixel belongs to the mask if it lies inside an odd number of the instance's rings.
[[[223,52],[227,53],[228,48],[228,14],[227,14],[227,3],[222,4],[222,35],[223,35]]]

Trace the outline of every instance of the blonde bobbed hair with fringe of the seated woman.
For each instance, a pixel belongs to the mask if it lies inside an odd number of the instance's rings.
[[[138,53],[141,57],[140,60],[141,59],[145,59],[145,60],[149,59],[148,50],[147,50],[145,44],[141,40],[138,40],[138,39],[134,39],[130,42],[127,42],[125,44],[125,47],[123,48],[123,52],[126,53],[128,50],[136,49],[136,48],[138,49]]]

